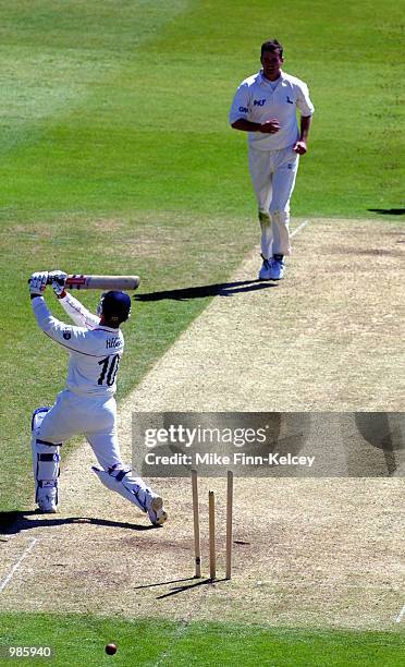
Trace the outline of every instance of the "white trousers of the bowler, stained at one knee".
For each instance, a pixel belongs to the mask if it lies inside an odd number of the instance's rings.
[[[299,156],[293,146],[258,150],[249,146],[249,173],[256,193],[261,227],[261,254],[290,255],[290,199]]]

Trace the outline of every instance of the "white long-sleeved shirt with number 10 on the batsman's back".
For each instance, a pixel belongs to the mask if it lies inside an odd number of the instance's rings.
[[[78,326],[53,317],[42,296],[32,300],[39,328],[70,353],[68,389],[81,396],[113,396],[124,350],[121,329],[101,326],[100,318],[69,293],[60,303]]]

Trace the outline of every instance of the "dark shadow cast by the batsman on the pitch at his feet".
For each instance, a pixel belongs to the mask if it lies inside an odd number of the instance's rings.
[[[35,519],[38,517],[38,519]],[[85,523],[93,525],[103,525],[110,527],[128,529],[131,531],[155,531],[157,526],[139,525],[137,523],[126,523],[124,521],[109,521],[108,519],[95,519],[93,517],[68,517],[65,519],[48,519],[44,514],[38,514],[35,511],[28,512],[0,512],[0,534],[15,535],[23,531],[29,531],[36,527],[54,527],[56,525],[65,525],[69,523]],[[56,514],[47,514],[47,517],[57,517]]]

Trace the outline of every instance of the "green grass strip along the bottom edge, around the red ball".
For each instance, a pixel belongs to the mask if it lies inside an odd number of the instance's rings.
[[[388,632],[298,631],[235,623],[128,621],[41,614],[3,614],[0,621],[2,651],[11,645],[51,646],[53,655],[49,663],[52,665],[404,665],[405,638]],[[106,644],[111,642],[118,646],[113,658],[105,653]]]

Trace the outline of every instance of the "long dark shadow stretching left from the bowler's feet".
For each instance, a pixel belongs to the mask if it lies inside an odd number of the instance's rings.
[[[206,296],[233,296],[234,294],[255,292],[277,287],[274,282],[261,280],[242,280],[238,282],[219,282],[217,284],[202,284],[193,288],[181,288],[177,290],[164,290],[162,292],[149,292],[136,294],[135,301],[188,301],[189,299],[205,299]]]

